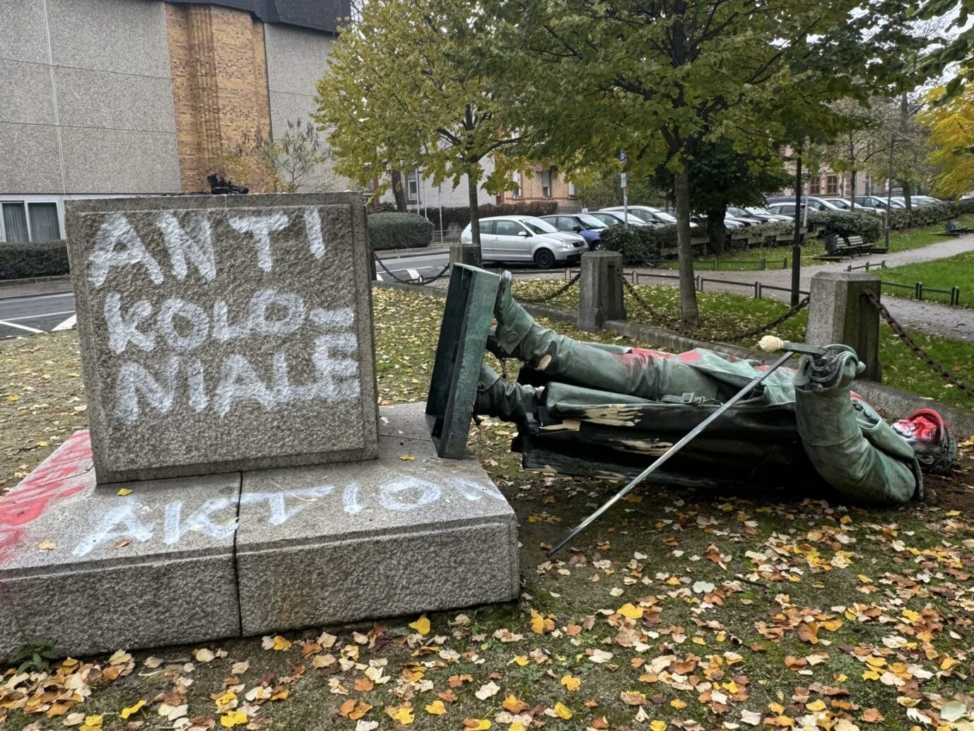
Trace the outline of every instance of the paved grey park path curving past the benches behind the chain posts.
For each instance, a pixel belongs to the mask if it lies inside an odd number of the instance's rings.
[[[825,264],[815,264],[802,268],[801,289],[807,290],[811,284],[811,278],[818,272],[843,271],[851,263],[853,266],[865,264],[867,261],[879,265],[885,259],[887,267],[900,266],[902,264],[913,264],[922,261],[934,261],[949,256],[954,256],[964,251],[974,250],[974,234],[947,239],[945,241],[930,244],[926,247],[897,251],[896,253],[870,254],[860,256],[855,259],[843,262],[832,262]],[[673,269],[637,269],[646,274],[676,274]],[[765,271],[748,272],[725,272],[697,270],[696,272],[708,280],[729,280],[732,282],[761,282],[763,285],[773,287],[791,287],[790,269],[766,269]],[[873,273],[873,272],[870,272]],[[877,276],[881,276],[877,270]],[[646,281],[643,281],[646,284]],[[676,286],[676,280],[659,279],[654,284]],[[707,282],[704,289],[716,289],[718,291],[728,291],[734,294],[748,293],[748,290],[736,285],[721,285],[716,282]],[[783,291],[766,291],[766,296],[788,301],[790,295]],[[974,292],[967,292],[970,297]],[[904,327],[922,330],[924,332],[937,333],[950,337],[955,340],[974,341],[974,313],[969,309],[951,307],[940,304],[939,302],[920,301],[907,299],[906,297],[896,297],[888,292],[883,292],[883,304],[889,313],[896,318]]]

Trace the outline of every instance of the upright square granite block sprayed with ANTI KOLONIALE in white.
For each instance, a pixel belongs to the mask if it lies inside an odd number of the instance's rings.
[[[99,482],[374,458],[356,194],[70,201]]]

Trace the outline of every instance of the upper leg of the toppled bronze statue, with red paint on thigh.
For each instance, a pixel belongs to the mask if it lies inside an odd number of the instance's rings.
[[[691,365],[640,352],[611,353],[541,327],[511,297],[510,282],[505,272],[494,308],[497,337],[507,355],[579,386],[640,399],[724,396],[718,382]]]

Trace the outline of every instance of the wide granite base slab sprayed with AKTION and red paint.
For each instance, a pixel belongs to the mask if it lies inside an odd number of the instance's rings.
[[[516,520],[424,404],[384,406],[378,460],[98,487],[88,432],[0,502],[0,657],[261,635],[518,594]]]

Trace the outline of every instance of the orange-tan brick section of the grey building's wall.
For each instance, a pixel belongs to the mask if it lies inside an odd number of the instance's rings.
[[[223,172],[244,138],[270,135],[264,25],[206,5],[167,4],[166,20],[180,183],[207,190],[206,175]]]

